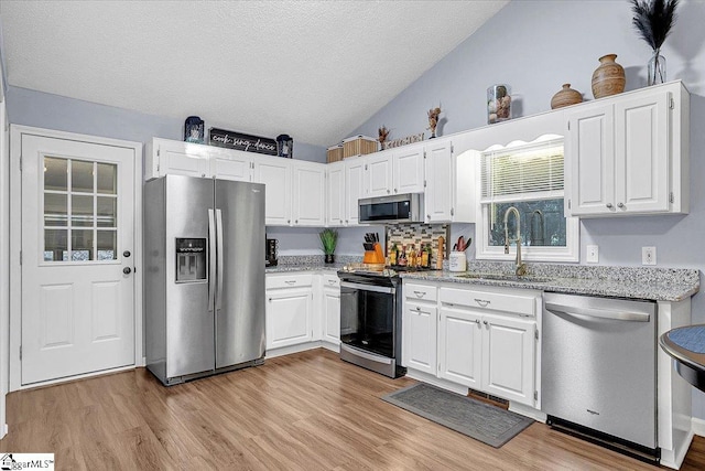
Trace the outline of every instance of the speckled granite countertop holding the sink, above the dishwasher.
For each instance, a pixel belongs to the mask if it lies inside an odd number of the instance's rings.
[[[511,275],[512,267],[511,264],[505,263],[475,261],[469,265],[466,274]],[[447,270],[404,272],[401,274],[401,277],[405,280],[538,289],[568,295],[653,301],[681,301],[699,290],[699,272],[696,269],[587,267],[551,264],[532,264],[529,265],[529,269],[525,281],[463,278],[459,275],[464,274]]]

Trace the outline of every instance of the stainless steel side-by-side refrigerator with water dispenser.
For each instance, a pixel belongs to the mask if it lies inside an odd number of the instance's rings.
[[[147,367],[164,384],[261,364],[264,185],[144,185]]]

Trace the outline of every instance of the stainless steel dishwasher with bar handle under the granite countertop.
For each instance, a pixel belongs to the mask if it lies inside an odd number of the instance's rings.
[[[546,422],[658,462],[655,302],[546,292],[543,307]]]

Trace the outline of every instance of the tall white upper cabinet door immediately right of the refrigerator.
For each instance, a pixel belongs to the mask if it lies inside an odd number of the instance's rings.
[[[291,224],[292,161],[281,157],[261,156],[254,161],[256,183],[264,183],[264,224]]]

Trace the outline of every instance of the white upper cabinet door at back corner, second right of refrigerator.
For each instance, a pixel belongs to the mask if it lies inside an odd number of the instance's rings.
[[[325,225],[326,171],[325,164],[294,161],[293,225]]]

